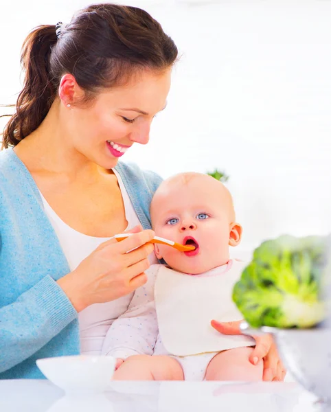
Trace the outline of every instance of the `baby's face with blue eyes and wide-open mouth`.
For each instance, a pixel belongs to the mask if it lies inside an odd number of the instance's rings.
[[[157,236],[196,246],[192,252],[179,252],[156,245],[157,257],[175,270],[198,274],[228,262],[234,211],[229,192],[216,179],[199,175],[187,183],[163,183],[151,216]]]

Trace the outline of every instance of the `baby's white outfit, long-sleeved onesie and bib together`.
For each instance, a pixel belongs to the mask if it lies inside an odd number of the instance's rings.
[[[222,335],[210,325],[212,319],[243,319],[231,295],[244,266],[230,260],[201,275],[150,266],[148,283],[137,289],[128,311],[109,328],[102,354],[125,359],[150,354],[153,348],[153,355],[176,358],[185,380],[203,380],[218,352],[255,344],[249,336]]]

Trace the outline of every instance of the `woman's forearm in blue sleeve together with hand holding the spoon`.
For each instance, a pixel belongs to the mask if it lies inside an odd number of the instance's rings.
[[[144,270],[153,250],[148,241],[155,233],[132,229],[137,230],[123,242],[113,238],[100,244],[58,281],[45,276],[14,302],[3,304],[0,373],[38,352],[85,307],[128,295],[146,283]]]

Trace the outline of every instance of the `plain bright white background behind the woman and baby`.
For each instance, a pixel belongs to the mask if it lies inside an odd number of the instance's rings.
[[[1,103],[20,89],[27,32],[69,21],[91,2],[1,5]],[[183,56],[150,143],[124,160],[163,177],[225,170],[244,227],[242,250],[281,233],[330,231],[331,1],[126,3],[155,16]]]

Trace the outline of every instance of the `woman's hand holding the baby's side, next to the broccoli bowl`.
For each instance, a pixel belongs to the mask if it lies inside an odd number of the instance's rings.
[[[212,321],[212,327],[222,334],[242,334],[240,330],[242,321],[224,322]],[[286,375],[286,369],[280,360],[275,342],[271,334],[254,336],[256,346],[249,357],[249,361],[256,365],[263,359],[264,370],[263,380],[283,381]]]

